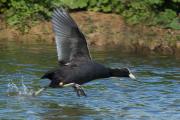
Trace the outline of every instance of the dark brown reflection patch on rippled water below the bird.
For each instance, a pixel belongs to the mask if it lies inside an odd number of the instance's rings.
[[[48,110],[46,109],[47,111],[40,114],[43,120],[69,120],[70,118],[78,120],[82,117],[88,119],[100,114],[100,111],[79,104],[66,105],[49,102],[45,106],[48,107]]]

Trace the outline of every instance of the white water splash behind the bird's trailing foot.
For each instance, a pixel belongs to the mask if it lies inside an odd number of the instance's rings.
[[[28,88],[23,81],[23,76],[21,79],[21,85],[18,86],[13,83],[12,80],[7,85],[7,94],[8,96],[32,96],[34,91]]]

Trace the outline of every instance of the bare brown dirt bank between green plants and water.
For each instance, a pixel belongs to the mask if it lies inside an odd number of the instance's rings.
[[[91,46],[118,46],[127,51],[180,54],[180,31],[148,26],[127,26],[121,16],[95,12],[72,13]],[[50,22],[21,33],[0,21],[0,39],[18,41],[54,40]]]

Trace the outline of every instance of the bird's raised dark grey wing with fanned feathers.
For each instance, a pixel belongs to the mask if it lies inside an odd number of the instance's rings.
[[[52,24],[59,63],[67,64],[91,59],[83,33],[66,10],[55,9]]]

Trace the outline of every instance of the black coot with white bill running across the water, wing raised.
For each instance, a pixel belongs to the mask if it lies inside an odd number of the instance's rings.
[[[63,8],[53,11],[52,25],[60,67],[42,76],[51,80],[48,87],[72,86],[78,96],[86,96],[81,85],[94,79],[108,77],[135,79],[127,68],[108,68],[93,61],[85,36]]]

